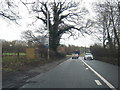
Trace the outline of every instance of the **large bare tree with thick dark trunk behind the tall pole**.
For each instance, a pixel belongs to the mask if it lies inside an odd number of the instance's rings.
[[[64,33],[74,35],[78,30],[83,35],[90,34],[86,28],[92,26],[91,20],[85,20],[88,11],[80,8],[78,2],[53,1],[40,2],[37,0],[32,5],[32,10],[36,14],[36,19],[41,20],[47,27],[47,18],[49,22],[49,46],[50,49],[57,52],[60,39]],[[47,14],[48,13],[48,14]]]

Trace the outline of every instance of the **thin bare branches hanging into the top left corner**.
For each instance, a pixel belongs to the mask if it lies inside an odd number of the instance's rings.
[[[14,0],[1,0],[0,17],[17,23],[17,20],[21,18],[17,3]]]

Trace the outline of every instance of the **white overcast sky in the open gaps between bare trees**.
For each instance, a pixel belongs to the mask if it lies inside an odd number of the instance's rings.
[[[78,0],[79,1],[79,0]],[[95,13],[92,9],[92,3],[95,2],[95,0],[83,0],[85,7],[89,10],[91,17],[95,16]],[[8,23],[8,21],[4,20],[0,17],[0,39],[5,39],[8,41],[12,40],[21,40],[21,32],[26,30],[27,26],[26,24],[31,21],[30,17],[27,13],[27,10],[25,9],[25,6],[21,4],[20,11],[22,12],[21,15],[23,16],[24,20],[21,20],[21,25],[15,25],[14,23]],[[79,37],[77,40],[74,40],[71,38],[66,38],[66,35],[63,35],[65,38],[64,40],[61,40],[61,44],[65,45],[76,45],[76,46],[90,46],[93,45],[96,41],[96,39],[93,39],[93,36],[86,36],[86,37]]]

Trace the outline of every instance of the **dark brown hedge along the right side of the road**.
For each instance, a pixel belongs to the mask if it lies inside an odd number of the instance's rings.
[[[118,50],[113,48],[104,48],[100,45],[93,45],[90,47],[91,53],[97,60],[105,61],[112,64],[117,64]]]

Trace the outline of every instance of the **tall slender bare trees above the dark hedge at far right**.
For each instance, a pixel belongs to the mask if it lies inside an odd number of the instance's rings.
[[[96,8],[98,27],[102,28],[103,33],[103,45],[108,44],[110,48],[119,46],[117,3],[115,1],[106,1],[103,4],[98,4]]]

